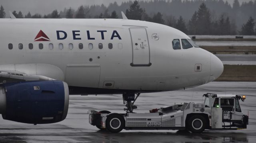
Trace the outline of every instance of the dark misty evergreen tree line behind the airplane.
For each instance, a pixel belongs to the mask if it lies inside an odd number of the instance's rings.
[[[215,2],[219,2],[224,4],[224,7],[230,6],[227,2],[224,3],[223,0],[214,0]],[[187,1],[184,2],[180,0],[172,0],[171,2],[166,2],[163,0],[154,0],[150,2],[123,2],[120,6],[117,5],[116,2],[111,3],[108,7],[99,5],[93,6],[80,6],[77,10],[72,9],[71,7],[68,9],[64,9],[63,11],[58,12],[54,10],[52,13],[42,16],[41,14],[34,14],[31,15],[30,12],[25,16],[22,14],[21,11],[16,12],[13,11],[12,13],[16,18],[119,18],[121,11],[120,7],[124,7],[129,4],[128,8],[126,8],[126,16],[128,19],[131,20],[145,20],[148,22],[155,22],[159,24],[165,24],[176,29],[183,31],[186,34],[190,35],[256,35],[256,27],[254,18],[252,15],[248,19],[248,21],[241,25],[241,28],[237,28],[236,20],[232,18],[232,14],[228,13],[229,10],[233,10],[236,14],[241,15],[241,10],[246,4],[255,5],[254,12],[256,13],[256,2],[254,3],[242,3],[240,6],[238,0],[234,0],[233,7],[227,9],[226,12],[222,12],[220,16],[216,16],[212,10],[208,8],[206,5],[207,2],[214,2],[213,0],[202,1],[202,0],[194,0],[194,1]],[[201,2],[197,10],[194,10],[192,16],[186,20],[182,15],[166,15],[162,12],[148,12],[146,8],[143,8],[141,5],[148,5],[150,7],[151,3],[156,5],[163,5],[163,4],[183,4],[186,3],[196,4],[197,2]],[[222,3],[223,2],[223,3]],[[146,6],[145,6],[146,7]],[[191,6],[193,7],[193,6]],[[221,9],[221,8],[220,8]],[[110,12],[110,10],[112,10]],[[250,11],[250,10],[249,10]],[[4,12],[3,6],[0,7],[0,18],[5,18],[6,13]],[[178,18],[177,18],[178,17]],[[237,16],[236,16],[237,17]],[[255,29],[254,29],[255,27]]]

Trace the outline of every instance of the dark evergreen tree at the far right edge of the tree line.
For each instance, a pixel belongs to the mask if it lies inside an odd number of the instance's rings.
[[[254,35],[254,19],[252,17],[246,22],[246,24],[242,25],[240,34],[242,35]]]

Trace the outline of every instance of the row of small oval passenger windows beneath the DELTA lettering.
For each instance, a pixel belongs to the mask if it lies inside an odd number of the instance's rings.
[[[21,50],[21,49],[23,49],[23,44],[19,44],[18,45],[18,48]],[[32,50],[34,48],[34,45],[32,44],[32,43],[30,43],[30,44],[28,44],[28,49],[30,49],[30,50]],[[44,45],[42,44],[42,43],[40,43],[39,45],[38,45],[38,48],[40,49],[40,50],[42,50],[42,49],[44,49]],[[64,46],[63,46],[63,44],[62,43],[60,43],[59,44],[59,49],[63,49],[64,48]],[[72,50],[73,48],[74,48],[74,46],[73,46],[73,44],[72,43],[70,43],[70,44],[68,44],[68,48],[70,49],[70,50]],[[79,49],[84,49],[84,45],[82,44],[82,43],[80,43],[80,44],[78,44],[78,48]],[[88,48],[89,49],[93,49],[93,44],[92,43],[89,43],[88,44]],[[103,49],[103,44],[102,43],[99,43],[98,44],[98,48],[99,49]],[[13,45],[12,45],[12,43],[10,43],[10,44],[8,44],[8,49],[13,49]],[[53,49],[53,44],[52,43],[50,43],[49,44],[49,49]],[[113,44],[112,43],[108,43],[108,49],[113,49]]]

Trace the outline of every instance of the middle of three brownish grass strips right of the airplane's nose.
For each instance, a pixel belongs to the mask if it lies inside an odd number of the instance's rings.
[[[256,46],[200,46],[214,54],[256,54]]]

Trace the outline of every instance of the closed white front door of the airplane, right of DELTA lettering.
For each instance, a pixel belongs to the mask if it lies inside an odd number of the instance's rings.
[[[130,28],[132,39],[132,67],[149,67],[150,47],[146,28]]]

